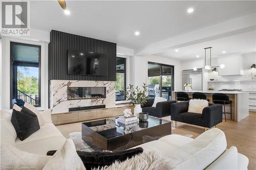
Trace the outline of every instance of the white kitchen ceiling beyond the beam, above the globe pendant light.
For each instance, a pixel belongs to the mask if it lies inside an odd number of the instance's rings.
[[[179,48],[179,52],[175,50],[165,51],[155,54],[161,57],[170,57],[177,60],[193,60],[204,57],[204,48],[212,47],[212,57],[232,53],[250,53],[256,51],[256,31],[251,31],[243,34],[237,34],[225,38],[220,38],[212,41],[198,43],[194,45]],[[223,54],[222,52],[226,53]]]

